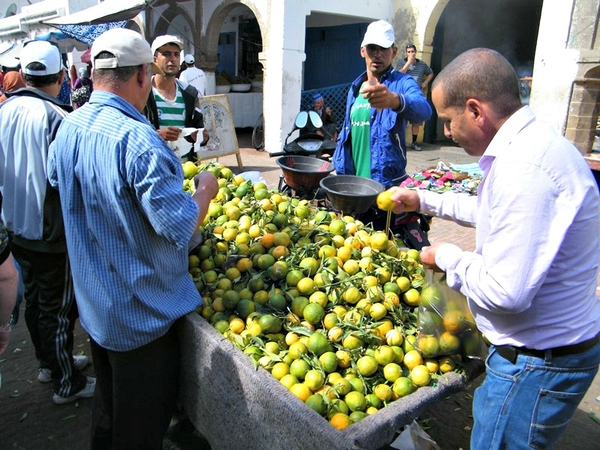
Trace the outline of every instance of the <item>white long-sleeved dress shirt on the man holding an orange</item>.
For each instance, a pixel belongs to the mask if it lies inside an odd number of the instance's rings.
[[[479,161],[477,197],[419,191],[421,212],[476,225],[476,249],[436,264],[495,345],[545,350],[600,330],[598,186],[581,153],[525,106]]]

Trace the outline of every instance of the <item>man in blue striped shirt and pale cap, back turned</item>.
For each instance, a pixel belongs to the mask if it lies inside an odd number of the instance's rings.
[[[91,59],[94,92],[48,164],[98,379],[91,447],[160,450],[178,398],[174,325],[202,304],[188,242],[218,184],[203,172],[184,192],[181,162],[141,114],[154,55],[139,33],[103,33]]]

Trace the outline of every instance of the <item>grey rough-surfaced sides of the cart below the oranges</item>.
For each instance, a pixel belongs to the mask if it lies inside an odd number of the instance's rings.
[[[179,333],[181,403],[213,450],[379,449],[427,408],[466,388],[461,375],[446,374],[435,387],[420,388],[338,431],[266,370],[256,370],[247,355],[199,315],[186,316]],[[481,365],[469,362],[467,373],[480,371]]]

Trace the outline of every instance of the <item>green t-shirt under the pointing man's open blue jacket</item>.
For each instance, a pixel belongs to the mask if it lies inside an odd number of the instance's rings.
[[[362,94],[350,108],[350,139],[356,175],[371,178],[371,104]]]

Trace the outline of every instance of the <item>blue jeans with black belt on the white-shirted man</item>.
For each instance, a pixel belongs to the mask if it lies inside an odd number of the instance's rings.
[[[600,343],[576,355],[515,364],[490,348],[486,378],[473,399],[472,450],[551,449],[592,384]]]

